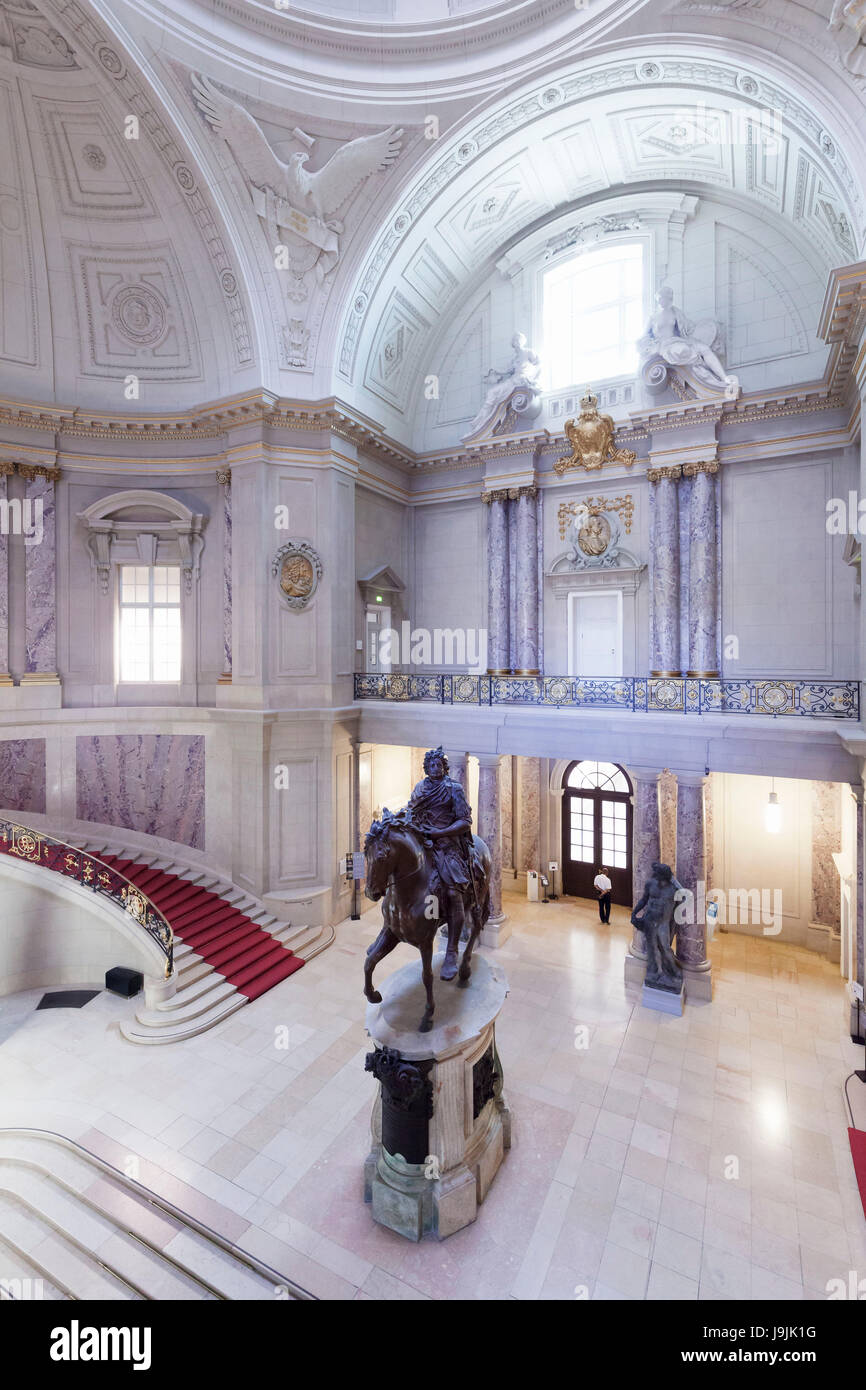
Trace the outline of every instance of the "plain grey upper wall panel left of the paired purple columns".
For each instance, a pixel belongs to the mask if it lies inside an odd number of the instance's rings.
[[[487,630],[484,524],[481,500],[417,507],[416,627]]]

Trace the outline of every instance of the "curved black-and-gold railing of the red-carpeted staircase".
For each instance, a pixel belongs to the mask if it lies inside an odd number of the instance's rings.
[[[50,869],[90,888],[92,892],[99,892],[103,898],[110,898],[156,941],[165,956],[165,979],[170,977],[174,969],[171,926],[150,898],[117,869],[110,869],[101,859],[95,859],[83,849],[54,840],[42,830],[18,826],[13,820],[0,820],[0,853],[39,865],[40,869]]]

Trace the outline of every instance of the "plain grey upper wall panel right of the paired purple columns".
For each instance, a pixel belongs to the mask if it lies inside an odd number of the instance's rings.
[[[723,468],[723,631],[740,644],[724,676],[853,676],[853,585],[826,527],[835,485],[827,457]],[[835,669],[837,624],[849,669]]]

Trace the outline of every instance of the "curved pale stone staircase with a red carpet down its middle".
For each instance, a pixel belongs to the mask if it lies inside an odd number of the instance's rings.
[[[103,842],[81,845],[145,892],[175,937],[177,991],[121,1023],[131,1042],[178,1042],[204,1033],[288,980],[324,949],[321,927],[279,922],[224,878],[167,859],[132,858]],[[332,937],[331,937],[332,940]]]

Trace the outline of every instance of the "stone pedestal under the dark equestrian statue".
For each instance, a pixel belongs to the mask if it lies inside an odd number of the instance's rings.
[[[443,1240],[474,1222],[512,1141],[495,1038],[505,972],[475,955],[470,984],[460,988],[439,980],[443,952],[434,956],[430,1033],[418,1033],[420,959],[379,986],[381,1004],[367,1005],[374,1044],[367,1070],[378,1095],[364,1201],[374,1220],[409,1240]]]

